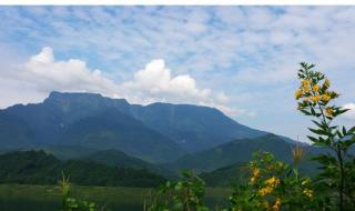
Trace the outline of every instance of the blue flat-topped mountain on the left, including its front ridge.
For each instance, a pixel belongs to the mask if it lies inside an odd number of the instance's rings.
[[[100,94],[52,92],[43,103],[1,110],[0,143],[6,149],[47,145],[118,149],[152,162],[183,154],[169,137],[123,113],[129,107],[125,100]]]

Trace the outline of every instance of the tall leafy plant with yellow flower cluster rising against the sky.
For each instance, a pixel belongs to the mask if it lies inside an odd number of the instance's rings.
[[[320,199],[326,208],[348,210],[355,207],[355,181],[352,175],[355,160],[348,153],[355,142],[355,127],[346,129],[333,124],[334,119],[347,110],[332,104],[339,94],[329,90],[331,81],[323,73],[314,71],[314,67],[301,63],[298,79],[302,84],[295,98],[298,100],[298,110],[313,118],[315,127],[310,131],[315,135],[310,135],[310,140],[316,147],[331,150],[314,158],[322,170],[316,178],[318,189],[323,192]]]

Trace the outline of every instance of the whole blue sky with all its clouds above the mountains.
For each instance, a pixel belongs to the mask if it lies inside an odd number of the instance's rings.
[[[306,141],[300,62],[355,123],[355,7],[0,7],[0,109],[50,91],[214,107]]]

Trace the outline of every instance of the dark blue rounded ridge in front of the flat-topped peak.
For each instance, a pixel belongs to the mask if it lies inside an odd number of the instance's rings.
[[[179,144],[115,109],[106,109],[67,127],[62,143],[98,150],[118,149],[151,162],[182,155]]]

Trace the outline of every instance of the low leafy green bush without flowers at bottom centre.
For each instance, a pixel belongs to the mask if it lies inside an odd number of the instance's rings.
[[[191,171],[182,173],[183,180],[168,181],[150,199],[148,211],[206,211],[204,181]]]

